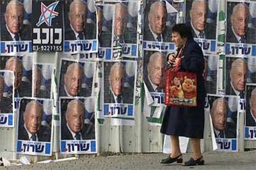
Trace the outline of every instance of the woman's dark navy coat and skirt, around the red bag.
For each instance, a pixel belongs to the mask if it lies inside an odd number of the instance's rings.
[[[166,108],[161,133],[191,138],[203,138],[205,80],[203,79],[204,59],[200,46],[192,37],[187,41],[182,53],[179,71],[197,74],[197,107],[168,106]]]

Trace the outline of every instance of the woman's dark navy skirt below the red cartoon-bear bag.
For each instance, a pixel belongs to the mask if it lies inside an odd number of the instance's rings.
[[[190,138],[203,138],[205,114],[203,104],[197,107],[168,106],[160,132]]]

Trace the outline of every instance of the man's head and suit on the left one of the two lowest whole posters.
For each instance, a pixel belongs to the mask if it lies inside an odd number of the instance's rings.
[[[22,116],[22,114],[20,114],[20,116]],[[29,101],[25,106],[25,111],[23,113],[23,124],[19,126],[18,140],[50,142],[51,129],[41,125],[42,118],[42,104],[36,100]]]

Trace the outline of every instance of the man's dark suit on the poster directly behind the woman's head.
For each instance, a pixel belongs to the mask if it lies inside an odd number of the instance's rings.
[[[187,22],[186,25],[189,25],[189,27],[191,28],[192,36],[194,38],[199,38],[195,34],[195,31],[192,28],[191,23]],[[215,40],[215,38],[216,38],[215,37],[216,36],[216,26],[213,23],[207,23],[204,32],[205,32],[205,39],[207,39],[207,40]]]

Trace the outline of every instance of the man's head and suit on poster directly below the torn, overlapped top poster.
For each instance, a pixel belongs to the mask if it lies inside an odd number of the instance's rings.
[[[108,75],[109,86],[105,86],[105,103],[133,103],[134,92],[133,89],[124,87],[125,76],[124,64],[115,62]]]

